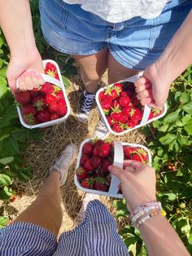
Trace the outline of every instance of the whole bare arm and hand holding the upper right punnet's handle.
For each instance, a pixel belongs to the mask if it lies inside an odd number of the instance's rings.
[[[168,99],[172,82],[192,63],[192,11],[172,37],[163,54],[150,67],[136,85],[141,104],[160,108]],[[146,79],[146,78],[147,79]]]

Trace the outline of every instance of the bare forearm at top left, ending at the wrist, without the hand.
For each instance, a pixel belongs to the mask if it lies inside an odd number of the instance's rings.
[[[0,26],[12,55],[36,47],[28,0],[0,0]]]

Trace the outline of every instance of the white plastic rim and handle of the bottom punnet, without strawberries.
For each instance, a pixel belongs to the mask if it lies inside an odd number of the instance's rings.
[[[83,148],[85,143],[88,143],[91,140],[92,139],[85,139],[81,143],[78,158],[77,158],[77,162],[76,162],[76,170],[80,167],[80,161],[81,161],[81,156],[82,156],[82,148]],[[151,152],[148,148],[146,148],[145,146],[143,146],[141,144],[124,143],[124,142],[117,142],[117,141],[114,142],[114,159],[113,159],[113,165],[114,166],[118,166],[120,168],[123,168],[123,164],[124,164],[123,146],[145,149],[147,154],[148,154],[148,157],[149,157],[148,165],[151,166]],[[78,188],[79,190],[81,190],[83,192],[94,193],[94,194],[103,195],[103,196],[111,196],[111,197],[116,197],[116,198],[123,198],[123,195],[118,193],[120,180],[117,179],[116,176],[114,176],[114,175],[111,175],[111,183],[110,183],[110,187],[109,187],[108,192],[103,192],[103,191],[99,191],[99,190],[95,190],[95,189],[88,189],[88,188],[81,187],[81,183],[79,183],[78,178],[76,176],[76,173],[75,173],[75,176],[74,176],[74,180],[75,180],[76,188]]]

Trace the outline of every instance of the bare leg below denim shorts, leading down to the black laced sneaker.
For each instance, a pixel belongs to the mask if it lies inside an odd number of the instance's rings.
[[[72,55],[81,68],[81,78],[85,90],[94,93],[98,89],[98,83],[107,69],[108,49],[99,51],[95,55]]]

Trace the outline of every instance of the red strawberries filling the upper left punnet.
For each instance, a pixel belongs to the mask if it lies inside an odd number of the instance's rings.
[[[45,73],[59,80],[55,64],[48,62]],[[50,82],[33,90],[17,90],[15,100],[20,106],[24,122],[28,125],[59,119],[68,112],[63,90]]]

